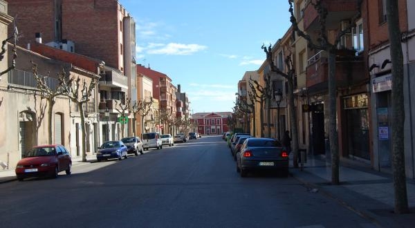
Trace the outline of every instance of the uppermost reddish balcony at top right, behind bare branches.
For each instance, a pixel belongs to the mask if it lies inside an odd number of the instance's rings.
[[[350,19],[356,15],[356,0],[322,0],[327,8],[326,28],[328,30],[338,29],[340,21]],[[319,30],[318,13],[314,6],[308,3],[304,9],[304,30]]]

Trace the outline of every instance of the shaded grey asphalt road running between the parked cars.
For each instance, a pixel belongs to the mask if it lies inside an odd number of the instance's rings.
[[[220,136],[0,184],[0,227],[374,227],[294,178],[241,178]]]

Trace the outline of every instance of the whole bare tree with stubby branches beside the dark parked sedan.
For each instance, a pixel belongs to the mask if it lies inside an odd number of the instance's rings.
[[[273,61],[273,56],[272,56],[273,53],[270,52],[271,48],[269,47],[267,50],[266,47],[263,45],[262,49],[264,49],[264,52],[266,53],[266,60],[268,61],[268,64],[271,67],[271,71],[281,75],[288,82],[288,108],[290,110],[291,134],[292,134],[292,140],[293,140],[293,147],[292,147],[293,165],[295,168],[297,168],[299,146],[298,146],[298,124],[297,124],[297,117],[296,117],[297,111],[295,110],[295,104],[294,104],[294,74],[295,74],[294,64],[291,59],[291,55],[287,55],[285,59],[287,70],[286,70],[286,73],[284,73],[282,70],[279,70],[277,66],[275,66],[275,63]]]

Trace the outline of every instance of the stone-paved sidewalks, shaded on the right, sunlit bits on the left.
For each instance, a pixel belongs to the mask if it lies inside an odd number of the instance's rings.
[[[91,162],[95,157],[89,156],[87,160]],[[398,215],[394,213],[392,175],[374,171],[361,162],[351,162],[340,161],[339,185],[331,184],[331,164],[322,157],[309,157],[304,169],[290,167],[290,173],[304,184],[308,193],[324,194],[379,227],[415,227],[415,180],[407,180],[411,213]],[[81,158],[73,158],[73,165],[77,163],[81,163]],[[293,163],[292,160],[290,163]],[[14,171],[0,169],[0,184],[14,180]]]

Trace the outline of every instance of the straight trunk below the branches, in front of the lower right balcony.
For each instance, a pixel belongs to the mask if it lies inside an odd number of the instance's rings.
[[[339,149],[336,113],[335,50],[327,48],[329,55],[329,140],[331,151],[331,183],[339,184]]]

